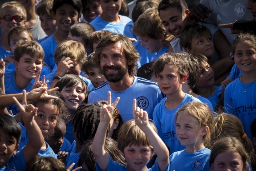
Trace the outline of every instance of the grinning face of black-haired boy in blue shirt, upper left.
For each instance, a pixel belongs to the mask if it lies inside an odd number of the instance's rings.
[[[56,10],[53,17],[56,19],[58,30],[69,32],[70,27],[78,20],[78,11],[72,5],[63,4]]]

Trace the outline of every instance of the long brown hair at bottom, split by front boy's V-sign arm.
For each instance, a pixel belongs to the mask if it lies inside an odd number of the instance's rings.
[[[85,141],[77,165],[82,166],[85,163],[90,171],[96,171],[96,159],[92,152],[93,139]],[[113,161],[126,166],[126,161],[121,151],[117,147],[117,142],[110,137],[106,137],[104,150]]]

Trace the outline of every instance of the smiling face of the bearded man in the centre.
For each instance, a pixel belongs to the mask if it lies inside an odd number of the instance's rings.
[[[119,82],[128,76],[128,61],[120,42],[105,46],[100,54],[101,70],[109,82]]]

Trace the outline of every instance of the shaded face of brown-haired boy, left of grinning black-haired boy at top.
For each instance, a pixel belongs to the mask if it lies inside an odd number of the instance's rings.
[[[41,21],[41,27],[43,31],[48,36],[54,34],[57,30],[56,20],[53,18],[52,15],[39,15],[39,19]]]

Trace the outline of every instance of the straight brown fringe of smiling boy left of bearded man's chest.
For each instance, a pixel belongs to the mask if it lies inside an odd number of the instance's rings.
[[[55,85],[55,87],[59,87],[58,91],[62,91],[64,87],[74,87],[81,83],[82,85],[82,92],[85,94],[85,98],[89,94],[89,89],[86,83],[82,78],[80,78],[78,75],[74,74],[65,74]]]

